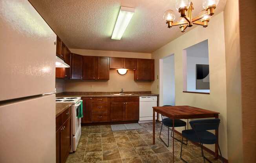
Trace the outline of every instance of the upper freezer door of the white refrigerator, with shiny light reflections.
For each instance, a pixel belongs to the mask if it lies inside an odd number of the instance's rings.
[[[56,34],[27,0],[0,4],[0,101],[54,92]]]

